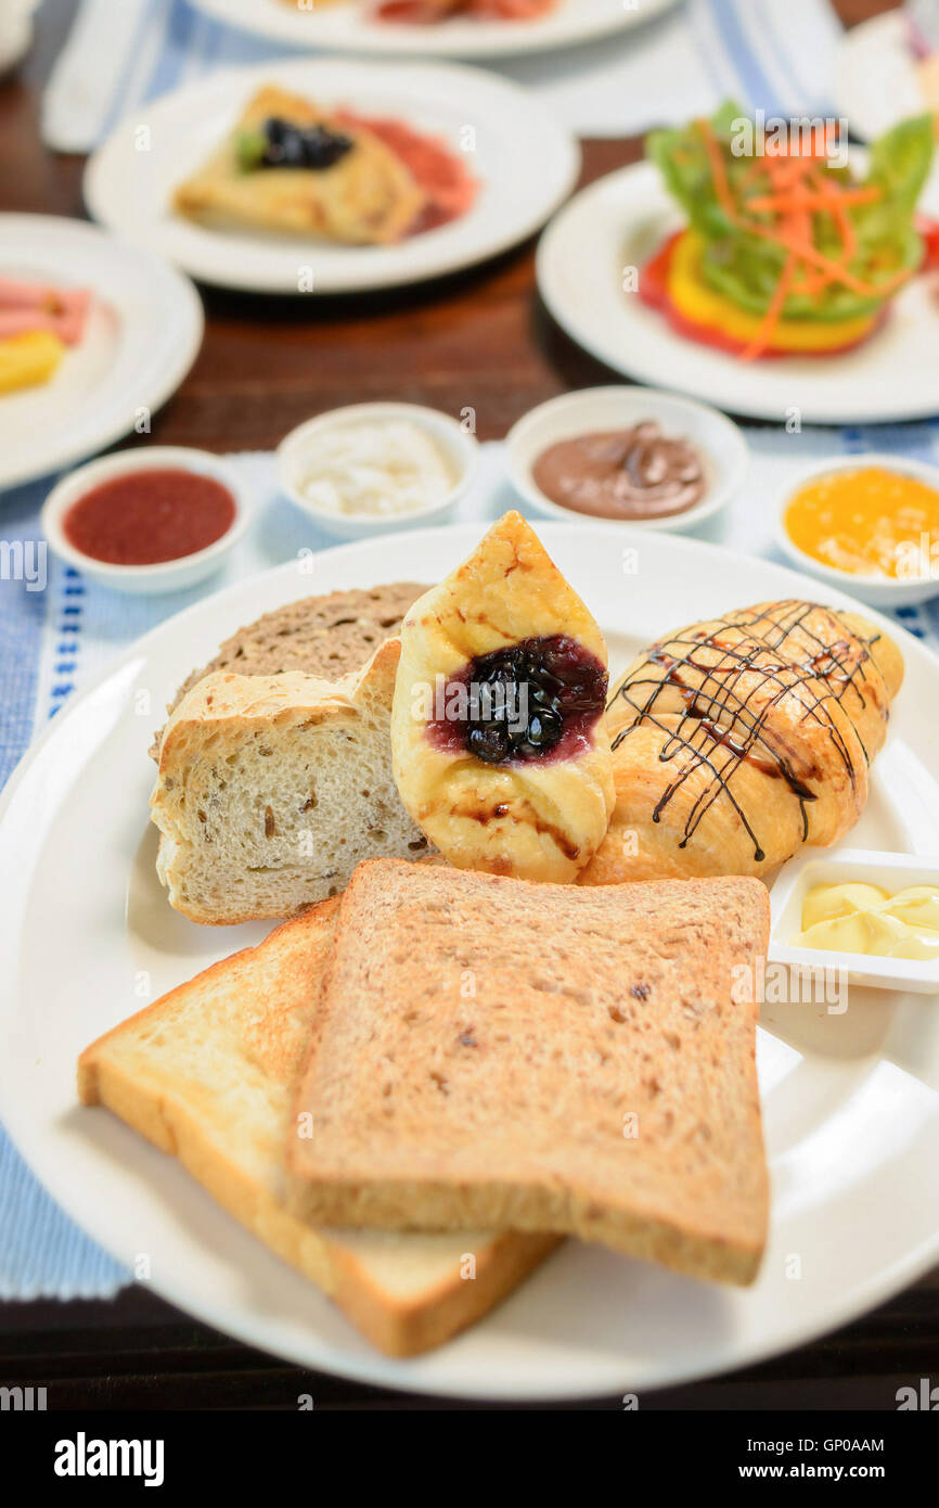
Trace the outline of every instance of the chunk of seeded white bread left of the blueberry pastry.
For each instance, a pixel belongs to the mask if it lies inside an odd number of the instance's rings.
[[[387,639],[339,682],[217,671],[184,697],[151,796],[176,911],[214,926],[291,917],[363,858],[428,852],[392,775],[399,651]]]

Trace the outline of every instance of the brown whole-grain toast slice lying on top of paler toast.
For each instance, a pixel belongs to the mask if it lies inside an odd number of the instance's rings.
[[[297,1098],[312,1120],[291,1126],[294,1208],[556,1231],[751,1282],[767,938],[757,879],[591,890],[363,864]]]

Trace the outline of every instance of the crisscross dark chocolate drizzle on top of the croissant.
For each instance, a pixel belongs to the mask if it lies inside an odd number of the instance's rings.
[[[830,629],[830,638],[827,633],[821,638],[811,626],[815,614]],[[722,638],[728,629],[743,635],[739,642]],[[820,772],[806,771],[800,778],[785,751],[767,736],[767,719],[778,703],[796,697],[803,707],[799,721],[811,721],[827,730],[837,759],[853,787],[858,778],[855,757],[835,721],[832,703],[849,718],[867,762],[868,754],[846,698],[852,692],[859,707],[867,707],[865,673],[859,671],[868,661],[877,670],[870,654],[873,642],[874,639],[864,641],[852,633],[832,609],[811,602],[776,602],[763,612],[745,608],[728,614],[711,633],[689,629],[654,644],[610,703],[612,707],[622,700],[635,713],[616,733],[615,749],[638,727],[650,724],[665,736],[659,756],[663,765],[683,756],[678,774],[665,786],[653,811],[653,822],[660,820],[689,777],[704,768],[708,778],[692,805],[678,846],[687,847],[702,817],[723,795],[754,844],[754,858],[761,863],[766,858],[764,849],[731,790],[734,772],[746,762],[763,774],[785,781],[799,801],[805,840],[809,826],[808,802],[817,799],[806,781],[820,778]],[[708,665],[705,651],[717,651],[719,661]],[[663,721],[665,716],[674,716],[674,712],[666,713],[659,707],[659,698],[668,688],[677,688],[684,701],[684,712],[674,728]]]

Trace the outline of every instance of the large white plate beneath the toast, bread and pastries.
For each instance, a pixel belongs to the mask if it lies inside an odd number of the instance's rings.
[[[482,1324],[407,1362],[372,1351],[173,1158],[107,1111],[75,1102],[78,1053],[140,1009],[142,980],[160,994],[265,930],[197,927],[166,903],[146,807],[146,749],[161,706],[193,664],[256,614],[310,591],[413,575],[434,581],[481,532],[466,525],[386,535],[318,555],[312,576],[291,562],[232,587],[149,633],[53,722],[0,808],[0,1114],[96,1241],[128,1267],[148,1255],[160,1294],[304,1366],[418,1392],[518,1399],[621,1393],[743,1366],[852,1320],[939,1256],[933,1000],[856,991],[844,1015],[764,1009],[758,1068],[773,1217],[752,1289],[698,1283],[568,1241]],[[613,668],[654,635],[745,602],[850,600],[781,566],[675,535],[632,535],[625,573],[616,529],[544,523],[540,532],[597,614]],[[937,804],[922,766],[934,763],[939,665],[913,638],[898,639],[907,683],[850,841],[918,843],[921,852],[931,843],[939,852],[922,799]]]

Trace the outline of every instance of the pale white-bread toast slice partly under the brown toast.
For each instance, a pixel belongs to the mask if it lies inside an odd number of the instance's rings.
[[[390,1356],[440,1345],[499,1303],[550,1237],[317,1231],[283,1206],[286,1122],[333,944],[327,900],[93,1042],[86,1105],[107,1105]]]

